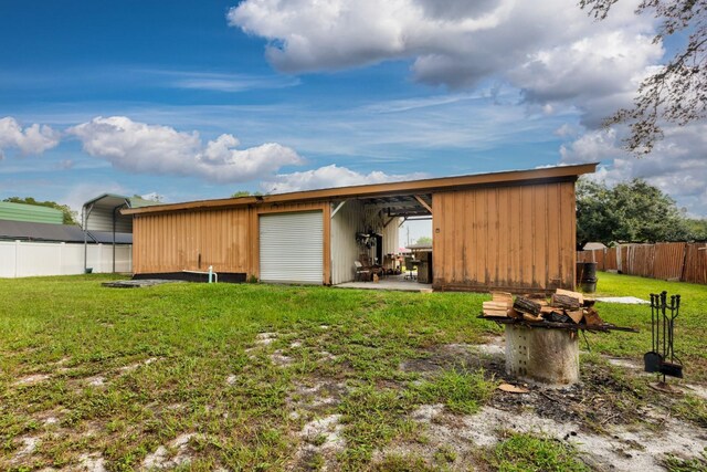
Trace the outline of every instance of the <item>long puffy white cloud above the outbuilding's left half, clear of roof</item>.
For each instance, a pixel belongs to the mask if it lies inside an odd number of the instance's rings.
[[[135,174],[198,176],[215,182],[242,182],[303,164],[292,148],[267,143],[236,149],[239,140],[221,135],[205,145],[199,133],[137,123],[125,116],[96,117],[67,132],[92,156]]]

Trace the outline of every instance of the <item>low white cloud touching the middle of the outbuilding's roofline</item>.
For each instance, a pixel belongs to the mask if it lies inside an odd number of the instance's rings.
[[[365,183],[384,183],[399,180],[413,180],[429,177],[426,174],[388,175],[381,171],[360,174],[336,165],[319,167],[302,172],[281,174],[261,183],[264,191],[284,193],[298,190],[347,187]]]

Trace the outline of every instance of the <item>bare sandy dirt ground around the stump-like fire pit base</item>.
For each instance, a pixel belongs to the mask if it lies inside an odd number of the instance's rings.
[[[455,416],[442,405],[424,405],[410,418],[424,426],[425,441],[402,442],[378,451],[374,461],[389,454],[433,458],[444,448],[454,450],[453,469],[477,468],[479,448],[495,445],[506,432],[529,432],[574,444],[582,459],[597,470],[634,471],[661,468],[665,454],[699,458],[707,447],[707,430],[669,417],[651,407],[631,376],[643,366],[633,359],[609,358],[615,367],[582,363],[579,384],[564,388],[518,382],[505,374],[505,353],[498,338],[484,345],[450,344],[420,353],[401,363],[403,371],[430,377],[450,368],[484,368],[488,377],[528,389],[527,394],[496,391],[474,416]],[[707,392],[688,386],[695,392]],[[687,391],[687,387],[685,388]],[[666,406],[669,403],[666,399]],[[433,464],[430,464],[433,465]]]

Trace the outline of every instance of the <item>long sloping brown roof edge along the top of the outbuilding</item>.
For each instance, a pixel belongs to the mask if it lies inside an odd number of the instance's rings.
[[[542,181],[558,181],[568,179],[576,180],[583,174],[594,172],[598,165],[599,162],[591,162],[577,166],[558,166],[528,170],[474,174],[467,176],[338,187],[321,190],[296,191],[257,197],[199,200],[184,203],[156,204],[144,208],[125,208],[120,212],[123,214],[144,214],[180,210],[208,210],[262,203],[282,203],[291,201],[327,199],[341,200],[346,198],[373,198],[377,196],[416,195],[435,191],[449,191],[481,186],[527,185],[540,183]]]

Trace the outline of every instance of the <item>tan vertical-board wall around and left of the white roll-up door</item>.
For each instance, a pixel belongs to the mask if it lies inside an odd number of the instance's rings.
[[[321,280],[329,283],[328,202],[136,214],[133,223],[133,271],[136,274],[205,271],[213,265],[217,272],[260,277],[260,214],[312,210],[323,211]]]

